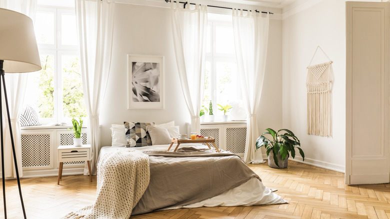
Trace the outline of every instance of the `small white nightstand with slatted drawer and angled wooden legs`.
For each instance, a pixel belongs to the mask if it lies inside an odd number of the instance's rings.
[[[81,146],[59,145],[57,148],[57,152],[59,161],[57,184],[59,184],[59,179],[61,179],[62,177],[63,162],[69,161],[86,161],[86,163],[88,164],[89,178],[90,181],[92,181],[92,174],[90,171],[89,163],[89,160],[91,160],[90,144],[82,144]]]

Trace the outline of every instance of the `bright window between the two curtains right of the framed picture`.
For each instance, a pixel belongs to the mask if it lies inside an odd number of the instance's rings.
[[[208,13],[206,66],[202,105],[211,100],[214,114],[223,114],[216,104],[240,98],[231,15]]]

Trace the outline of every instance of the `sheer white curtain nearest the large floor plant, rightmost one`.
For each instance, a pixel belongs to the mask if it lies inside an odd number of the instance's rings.
[[[255,143],[259,135],[256,113],[260,101],[265,71],[268,44],[269,14],[255,11],[233,10],[234,45],[238,73],[248,118],[246,121],[246,142],[244,161],[264,162],[261,150],[255,153]]]

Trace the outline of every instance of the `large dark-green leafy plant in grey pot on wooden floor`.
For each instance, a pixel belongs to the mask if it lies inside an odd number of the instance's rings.
[[[292,158],[295,157],[295,147],[298,148],[300,155],[304,160],[303,150],[300,148],[299,139],[295,136],[292,131],[288,129],[280,129],[278,131],[273,130],[272,128],[267,128],[266,132],[262,133],[256,140],[256,150],[262,146],[265,147],[267,152],[267,156],[269,151],[273,152],[273,159],[275,160],[275,164],[279,166],[277,163],[277,154],[280,152],[281,160],[284,161],[285,158],[288,158],[291,153]],[[280,131],[284,131],[283,134],[279,134]],[[270,134],[272,136],[271,140],[265,137],[265,134]],[[299,146],[299,147],[298,147]]]

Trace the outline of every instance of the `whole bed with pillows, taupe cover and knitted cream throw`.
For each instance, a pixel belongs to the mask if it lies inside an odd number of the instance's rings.
[[[174,121],[112,124],[97,159],[96,200],[64,218],[123,218],[156,210],[287,203],[242,159],[202,144],[180,144]],[[153,145],[150,145],[153,144]]]

